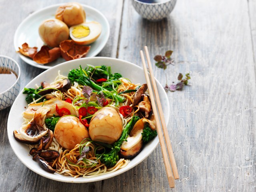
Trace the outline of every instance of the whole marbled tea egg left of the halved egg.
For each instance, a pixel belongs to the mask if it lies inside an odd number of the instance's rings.
[[[58,19],[46,19],[41,22],[38,33],[44,43],[50,47],[58,47],[60,42],[69,37],[68,26]]]

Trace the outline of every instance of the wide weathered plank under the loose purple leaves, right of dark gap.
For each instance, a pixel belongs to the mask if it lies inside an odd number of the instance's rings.
[[[125,1],[118,58],[142,66],[144,45],[152,63],[154,55],[174,50],[175,66],[154,68],[162,85],[165,74],[169,84],[179,72],[192,76],[192,87],[168,92],[180,174],[172,191],[255,191],[256,88],[247,2],[179,0],[168,19],[149,22]],[[134,178],[134,191],[169,191],[160,157],[157,148],[121,182]]]

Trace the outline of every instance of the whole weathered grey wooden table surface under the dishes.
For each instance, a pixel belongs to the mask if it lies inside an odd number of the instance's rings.
[[[100,10],[110,23],[110,38],[98,56],[142,66],[144,45],[153,64],[154,55],[171,49],[175,66],[154,65],[155,77],[164,86],[166,74],[168,84],[180,72],[191,74],[191,87],[168,92],[168,129],[180,179],[169,188],[160,146],[135,168],[108,180],[71,184],[44,178],[12,151],[7,108],[0,111],[0,191],[255,191],[256,0],[178,0],[160,22],[142,19],[131,0],[77,1]],[[44,70],[15,53],[14,32],[30,13],[60,2],[0,0],[0,54],[20,64],[22,88]]]

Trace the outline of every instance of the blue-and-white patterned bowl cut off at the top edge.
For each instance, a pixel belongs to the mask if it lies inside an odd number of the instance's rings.
[[[150,21],[160,21],[172,12],[177,0],[166,0],[161,3],[144,3],[132,0],[136,12]]]

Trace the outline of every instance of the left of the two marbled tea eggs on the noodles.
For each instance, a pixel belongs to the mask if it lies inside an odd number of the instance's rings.
[[[90,138],[88,130],[75,116],[60,118],[54,129],[54,138],[65,149],[72,150],[83,139]]]

